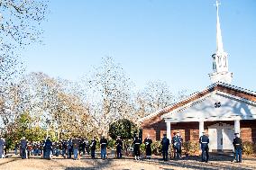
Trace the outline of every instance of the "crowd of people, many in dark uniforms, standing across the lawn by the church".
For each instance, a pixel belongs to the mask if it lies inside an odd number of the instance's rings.
[[[166,134],[163,134],[161,139],[161,151],[164,161],[169,160],[169,146],[173,148],[173,157],[181,158],[181,147],[183,139],[178,131],[174,132],[173,137],[170,140],[167,138]],[[20,156],[25,159],[33,156],[41,156],[46,159],[51,159],[55,157],[65,157],[73,158],[78,160],[79,157],[90,155],[91,158],[96,158],[96,139],[93,137],[90,141],[88,139],[73,138],[69,140],[60,140],[57,142],[52,142],[50,137],[41,142],[27,141],[24,137],[20,142],[15,145],[15,155],[18,155],[18,150],[20,151]],[[141,157],[141,145],[145,144],[145,154],[147,159],[151,159],[151,144],[152,139],[150,135],[147,136],[143,141],[138,135],[133,138],[133,156],[135,160],[140,160]],[[208,144],[209,138],[206,132],[199,138],[200,147],[202,150],[201,158],[203,162],[208,162]],[[107,158],[107,146],[108,141],[105,136],[102,136],[99,140],[100,145],[100,156],[102,159]],[[122,158],[123,156],[123,139],[120,136],[115,140],[116,157]],[[235,133],[235,138],[233,139],[233,148],[235,151],[236,162],[242,162],[242,139],[239,138],[239,134]],[[6,155],[5,139],[0,139],[0,157],[3,158]],[[73,156],[73,157],[72,157]]]

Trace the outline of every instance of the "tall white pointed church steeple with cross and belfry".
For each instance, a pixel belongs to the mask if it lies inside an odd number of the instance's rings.
[[[212,55],[214,72],[209,76],[213,83],[224,82],[230,84],[232,82],[233,73],[228,71],[228,54],[224,52],[221,25],[219,19],[219,5],[220,4],[218,0],[216,0],[216,52]]]

